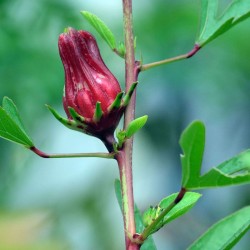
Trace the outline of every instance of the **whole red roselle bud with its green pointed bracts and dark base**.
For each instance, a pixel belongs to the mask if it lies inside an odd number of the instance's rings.
[[[63,106],[68,119],[51,107],[50,111],[65,126],[98,137],[112,151],[114,130],[136,83],[123,98],[119,82],[87,31],[67,28],[59,36],[58,46],[65,71]]]

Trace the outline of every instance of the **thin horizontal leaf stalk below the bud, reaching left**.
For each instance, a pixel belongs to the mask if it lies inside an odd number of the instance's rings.
[[[115,158],[115,153],[46,154],[36,147],[31,147],[30,150],[43,158],[76,158],[76,157],[98,157],[106,159]]]

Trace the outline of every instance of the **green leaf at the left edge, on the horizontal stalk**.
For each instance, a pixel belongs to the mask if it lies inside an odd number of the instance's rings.
[[[8,97],[3,98],[3,104],[0,107],[0,137],[28,148],[34,146],[25,132],[15,104]]]

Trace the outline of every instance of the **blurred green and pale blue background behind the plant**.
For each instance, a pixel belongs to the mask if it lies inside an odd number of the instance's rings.
[[[221,9],[228,1],[220,1]],[[123,39],[121,1],[1,0],[0,97],[14,100],[36,146],[48,153],[104,151],[95,138],[69,131],[44,104],[63,114],[64,72],[57,49],[67,26],[96,35],[104,61],[124,88],[124,62],[80,15],[103,19]],[[134,1],[137,58],[144,63],[190,51],[198,30],[199,1]],[[134,192],[139,208],[180,188],[178,145],[194,119],[205,122],[205,172],[250,148],[250,19],[208,44],[195,57],[140,75]],[[0,250],[124,249],[115,199],[115,162],[42,159],[0,139]],[[249,186],[202,191],[187,215],[155,234],[159,250],[185,249],[210,225],[249,205]],[[180,240],[181,239],[181,240]],[[247,249],[246,237],[235,249]]]

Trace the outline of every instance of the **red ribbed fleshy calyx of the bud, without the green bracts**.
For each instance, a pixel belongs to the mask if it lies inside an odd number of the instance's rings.
[[[68,28],[59,37],[59,52],[65,71],[64,109],[68,107],[85,118],[92,119],[96,103],[105,115],[113,103],[120,85],[104,64],[95,38],[87,31]]]

